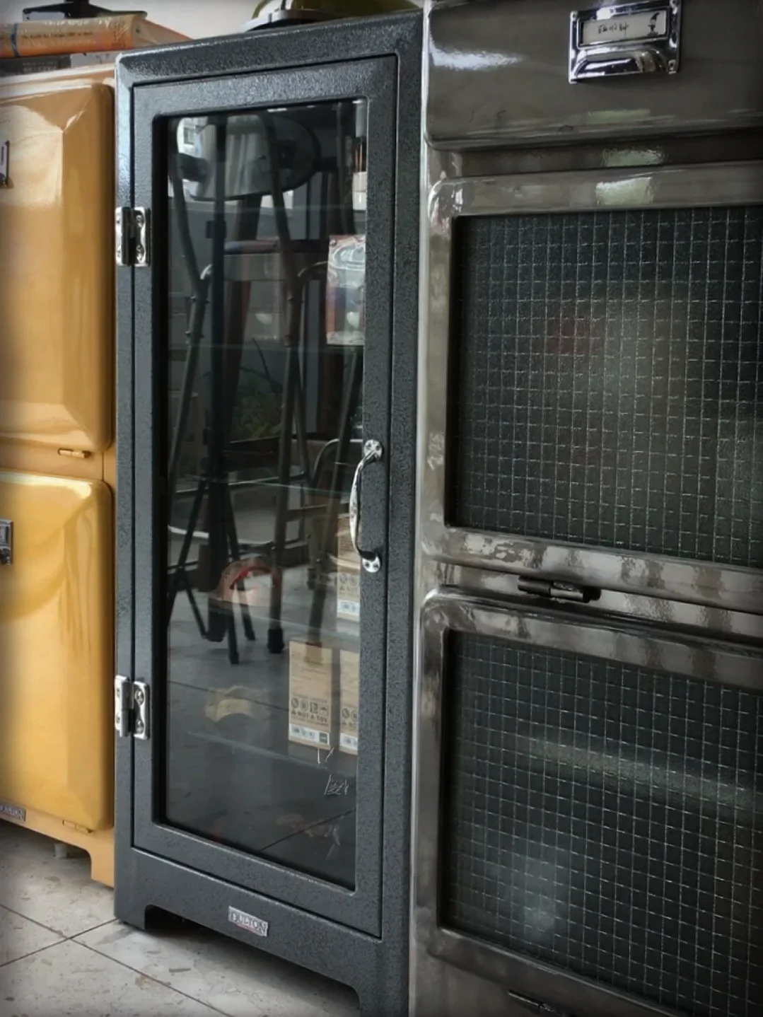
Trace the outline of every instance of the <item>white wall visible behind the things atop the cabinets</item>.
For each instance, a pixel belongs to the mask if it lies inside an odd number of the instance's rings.
[[[24,7],[54,0],[0,0],[0,21],[20,21]],[[144,10],[152,21],[191,39],[227,36],[251,17],[256,0],[91,0],[109,10]],[[423,0],[418,0],[423,6]]]

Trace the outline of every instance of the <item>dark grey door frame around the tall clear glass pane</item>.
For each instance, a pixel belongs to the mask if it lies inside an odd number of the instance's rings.
[[[134,273],[134,489],[140,525],[133,532],[135,633],[134,676],[151,689],[152,730],[133,750],[133,843],[153,854],[186,864],[230,884],[304,908],[370,935],[382,923],[382,823],[384,811],[385,645],[387,625],[387,563],[389,557],[389,447],[391,343],[394,261],[395,149],[387,139],[395,134],[396,60],[370,57],[349,65],[318,64],[295,69],[252,70],[214,80],[157,83],[138,87],[133,100],[133,202],[153,210],[153,263]],[[285,864],[221,845],[169,825],[160,815],[164,779],[167,708],[163,625],[166,565],[160,560],[158,520],[162,493],[157,478],[158,421],[166,394],[158,391],[162,376],[157,357],[162,343],[161,292],[166,285],[164,229],[166,199],[161,148],[162,124],[183,115],[253,110],[268,106],[303,105],[335,99],[365,98],[368,102],[368,327],[364,353],[363,410],[366,437],[382,440],[387,456],[364,478],[364,539],[384,547],[383,569],[361,574],[361,667],[363,709],[358,757],[356,884],[354,890],[330,883]],[[369,506],[374,511],[369,512]],[[242,665],[245,666],[245,665]]]

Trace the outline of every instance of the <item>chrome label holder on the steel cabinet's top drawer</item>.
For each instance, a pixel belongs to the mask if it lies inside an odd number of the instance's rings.
[[[634,0],[573,11],[570,82],[634,74],[674,74],[682,0]]]

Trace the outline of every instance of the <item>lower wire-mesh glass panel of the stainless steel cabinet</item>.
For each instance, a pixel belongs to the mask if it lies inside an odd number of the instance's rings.
[[[763,1013],[763,699],[478,636],[448,661],[442,923],[693,1017]]]

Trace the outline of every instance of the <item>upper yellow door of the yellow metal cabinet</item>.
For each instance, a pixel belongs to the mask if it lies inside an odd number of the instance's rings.
[[[0,84],[0,440],[112,440],[113,107],[99,80]]]

